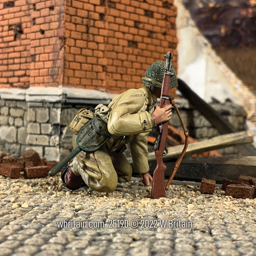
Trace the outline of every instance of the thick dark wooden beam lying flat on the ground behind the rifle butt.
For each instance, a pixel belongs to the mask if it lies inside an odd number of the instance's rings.
[[[165,162],[167,169],[164,173],[168,179],[174,162]],[[155,163],[149,163],[149,173],[153,174]],[[238,180],[239,175],[256,177],[256,157],[186,157],[182,160],[176,180],[201,181],[202,178],[216,180],[221,183],[223,179]]]

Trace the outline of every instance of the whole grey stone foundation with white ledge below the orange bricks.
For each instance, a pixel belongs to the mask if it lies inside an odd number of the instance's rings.
[[[62,90],[61,93],[56,93],[56,90],[54,94],[47,88],[44,96],[42,92],[36,95],[23,91],[19,97],[17,94],[0,92],[0,139],[4,154],[21,156],[31,147],[49,161],[63,159],[72,150],[73,133],[68,129],[68,124],[76,112],[81,108],[95,107],[100,102],[107,105],[114,96],[93,90],[72,89],[72,92]],[[40,102],[40,99],[50,102]],[[176,102],[190,136],[204,140],[219,135],[187,100],[177,99]],[[215,103],[212,106],[239,131],[245,129],[246,113],[243,107],[230,102]],[[182,129],[175,111],[170,124]],[[219,151],[229,156],[238,153],[233,147]]]

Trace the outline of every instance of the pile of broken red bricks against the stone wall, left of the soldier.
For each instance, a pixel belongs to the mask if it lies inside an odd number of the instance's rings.
[[[36,150],[29,148],[20,158],[0,158],[0,175],[17,179],[24,172],[26,179],[46,177],[56,164],[57,161],[42,159]]]

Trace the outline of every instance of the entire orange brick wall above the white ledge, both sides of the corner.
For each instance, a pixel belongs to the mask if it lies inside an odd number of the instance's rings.
[[[14,0],[0,4],[0,87],[141,87],[174,54],[173,0]]]

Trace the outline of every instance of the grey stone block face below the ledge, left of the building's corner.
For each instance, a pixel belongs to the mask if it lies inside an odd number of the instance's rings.
[[[49,160],[60,158],[60,103],[1,100],[0,144],[21,156],[34,148]]]

